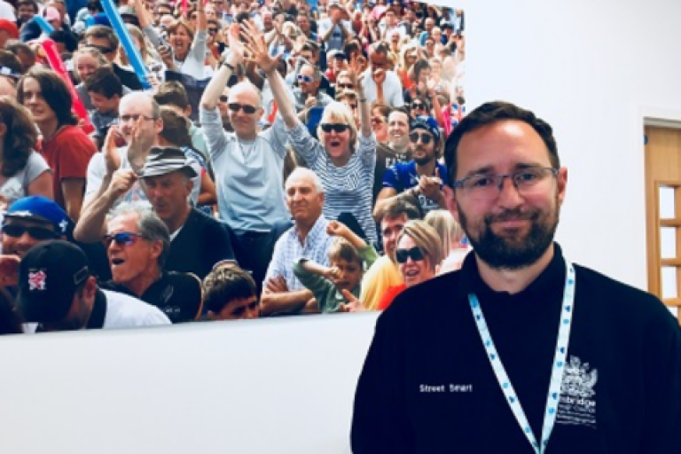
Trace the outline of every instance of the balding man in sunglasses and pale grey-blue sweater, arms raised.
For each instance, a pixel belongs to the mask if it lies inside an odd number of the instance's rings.
[[[234,132],[223,129],[221,96],[231,74],[244,62],[239,23],[232,24],[227,38],[229,51],[200,100],[200,122],[215,171],[219,218],[234,231],[232,246],[239,266],[252,271],[255,283],[262,286],[274,243],[291,226],[284,203],[286,125],[277,115],[269,129],[259,129],[262,93],[246,81],[231,87],[226,102]],[[288,97],[286,104],[294,109]]]

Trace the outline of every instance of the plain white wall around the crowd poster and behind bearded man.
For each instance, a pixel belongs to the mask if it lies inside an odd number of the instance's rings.
[[[681,119],[681,2],[460,0],[469,109],[536,111],[570,169],[569,257],[646,286],[642,113]],[[0,340],[12,453],[341,454],[375,315]]]

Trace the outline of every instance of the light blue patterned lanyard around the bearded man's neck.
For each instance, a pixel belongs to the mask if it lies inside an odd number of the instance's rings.
[[[568,343],[570,340],[570,326],[572,325],[572,312],[575,305],[575,268],[572,263],[566,261],[566,278],[565,291],[563,293],[563,308],[560,310],[560,326],[558,330],[558,342],[556,345],[555,356],[553,357],[553,370],[551,372],[551,384],[549,385],[549,395],[546,398],[546,409],[544,410],[544,427],[542,427],[542,444],[536,442],[535,434],[532,428],[529,427],[528,418],[525,416],[525,411],[522,410],[521,402],[518,400],[518,395],[515,394],[511,380],[508,379],[508,374],[501,363],[501,358],[497,353],[497,348],[492,341],[492,335],[489,333],[487,322],[482,315],[480,302],[475,294],[468,294],[468,301],[471,303],[471,310],[475,318],[475,323],[478,325],[478,332],[482,343],[487,350],[489,364],[492,365],[494,374],[497,376],[497,381],[501,387],[502,392],[506,397],[506,402],[511,407],[515,419],[518,421],[525,436],[528,437],[529,443],[534,448],[536,454],[543,454],[546,450],[546,445],[549,443],[553,425],[556,422],[556,412],[558,411],[558,403],[560,402],[560,384],[563,380],[563,373],[565,372],[565,358],[568,356]]]

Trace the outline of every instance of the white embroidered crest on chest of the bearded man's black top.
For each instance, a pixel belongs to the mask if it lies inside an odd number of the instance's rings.
[[[590,370],[591,369],[591,370]],[[570,356],[560,384],[556,423],[596,427],[596,384],[599,372],[577,356]]]

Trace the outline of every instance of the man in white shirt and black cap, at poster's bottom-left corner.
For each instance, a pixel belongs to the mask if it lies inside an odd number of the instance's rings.
[[[160,309],[100,290],[82,250],[62,240],[40,243],[21,260],[18,301],[27,333],[170,325]]]

